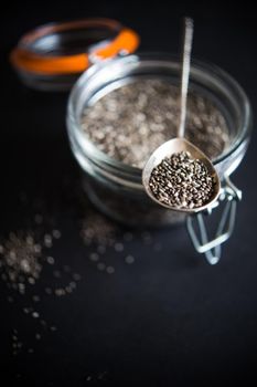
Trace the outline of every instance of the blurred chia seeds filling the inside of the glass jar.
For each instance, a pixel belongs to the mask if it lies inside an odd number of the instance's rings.
[[[138,80],[85,108],[82,128],[108,156],[143,168],[162,143],[176,136],[180,91],[160,80]],[[229,144],[224,116],[200,94],[190,93],[185,137],[214,159]]]

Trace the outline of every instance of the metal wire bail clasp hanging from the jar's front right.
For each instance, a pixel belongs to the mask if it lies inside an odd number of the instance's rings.
[[[214,205],[205,211],[186,218],[186,227],[193,245],[199,253],[205,254],[210,264],[215,264],[219,261],[222,243],[227,241],[233,233],[237,202],[240,199],[242,191],[233,185],[229,177],[226,177],[221,189],[221,195]],[[213,239],[208,239],[205,219],[212,215],[215,208],[221,208],[222,202],[224,203],[224,208],[221,210],[222,213],[216,232]]]

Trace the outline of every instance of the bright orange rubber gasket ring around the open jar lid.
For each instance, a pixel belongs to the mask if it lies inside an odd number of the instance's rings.
[[[116,36],[104,48],[94,52],[75,55],[44,55],[38,54],[30,45],[38,39],[47,34],[79,28],[106,27],[116,33]],[[23,35],[18,46],[11,52],[10,61],[19,71],[40,73],[46,75],[77,74],[85,71],[89,65],[89,55],[99,60],[116,56],[120,51],[132,53],[139,45],[139,35],[131,29],[122,27],[119,22],[110,19],[84,19],[66,23],[42,25]]]

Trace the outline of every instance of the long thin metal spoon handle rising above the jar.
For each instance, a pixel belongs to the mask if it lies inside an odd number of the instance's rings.
[[[185,18],[184,19],[182,72],[181,72],[181,91],[180,91],[181,92],[180,126],[179,126],[179,130],[178,130],[178,137],[184,137],[193,30],[194,30],[193,20],[190,18]]]

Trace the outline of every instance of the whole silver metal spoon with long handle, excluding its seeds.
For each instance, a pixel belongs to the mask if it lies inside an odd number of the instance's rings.
[[[144,168],[142,170],[142,185],[149,197],[158,202],[160,206],[167,207],[171,210],[183,211],[183,212],[199,212],[208,207],[214,202],[221,190],[221,182],[216,169],[214,168],[212,161],[200,150],[195,145],[191,144],[184,138],[185,130],[185,117],[186,117],[186,100],[189,90],[189,76],[190,76],[190,61],[191,61],[191,50],[193,40],[193,20],[185,18],[184,20],[184,40],[183,40],[183,59],[182,59],[182,74],[181,74],[181,112],[180,112],[180,126],[178,130],[178,137],[165,142],[159,146],[153,154],[148,159]],[[195,208],[178,208],[172,207],[167,203],[159,201],[152,194],[149,186],[149,180],[154,167],[157,167],[165,157],[171,157],[173,154],[180,151],[189,151],[191,157],[194,159],[200,159],[207,168],[208,174],[214,178],[215,181],[213,187],[213,194],[208,201],[204,206]]]

